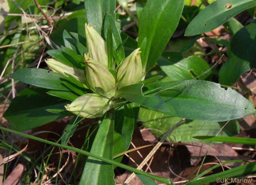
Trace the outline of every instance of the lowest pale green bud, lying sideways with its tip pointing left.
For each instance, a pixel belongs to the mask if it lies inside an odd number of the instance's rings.
[[[67,104],[65,108],[81,118],[98,118],[111,108],[113,102],[108,103],[108,101],[109,99],[98,94],[85,94],[72,101],[71,104]]]

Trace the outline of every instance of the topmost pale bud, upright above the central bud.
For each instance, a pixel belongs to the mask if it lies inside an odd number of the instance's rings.
[[[89,24],[85,24],[85,34],[89,57],[107,67],[108,55],[106,42]]]

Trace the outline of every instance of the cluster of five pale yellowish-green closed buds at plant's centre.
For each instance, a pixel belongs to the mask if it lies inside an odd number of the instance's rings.
[[[111,108],[118,88],[139,83],[144,72],[139,48],[125,58],[115,70],[110,70],[106,42],[89,24],[85,24],[85,34],[88,51],[84,53],[85,70],[68,66],[55,59],[48,59],[45,62],[54,72],[65,76],[71,75],[79,82],[87,84],[94,92],[80,96],[71,104],[67,104],[66,110],[83,118],[97,118]]]

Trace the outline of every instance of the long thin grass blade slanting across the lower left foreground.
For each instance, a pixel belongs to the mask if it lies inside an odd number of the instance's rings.
[[[56,143],[56,142],[48,141],[48,140],[45,140],[45,139],[42,139],[42,138],[39,138],[39,137],[36,137],[36,136],[33,136],[33,135],[27,135],[27,134],[24,134],[24,133],[20,133],[20,132],[17,132],[17,131],[11,130],[11,129],[7,129],[7,128],[4,128],[4,127],[0,127],[0,129],[3,130],[3,131],[7,131],[7,132],[10,132],[10,133],[16,134],[16,135],[21,135],[21,136],[29,138],[29,139],[33,139],[33,140],[37,140],[39,142],[50,144],[50,145],[53,145],[53,146],[56,146],[56,147],[61,147],[63,149],[67,149],[67,150],[71,150],[71,151],[76,151],[76,152],[81,153],[83,155],[87,155],[87,156],[93,157],[94,159],[98,159],[100,161],[104,161],[104,162],[106,162],[108,164],[112,164],[112,165],[118,166],[120,168],[124,168],[124,169],[130,170],[132,172],[135,172],[136,174],[144,175],[146,177],[155,179],[155,180],[157,180],[159,182],[162,182],[162,183],[165,183],[167,185],[171,184],[171,181],[168,178],[158,177],[158,176],[152,175],[150,173],[146,173],[144,171],[138,170],[136,168],[129,167],[129,166],[124,165],[122,163],[115,162],[113,160],[107,159],[105,157],[101,157],[99,155],[93,154],[93,153],[88,152],[88,151],[84,151],[84,150],[81,150],[81,149],[78,149],[78,148],[75,148],[75,147],[71,147],[71,146],[61,145],[61,144]]]

